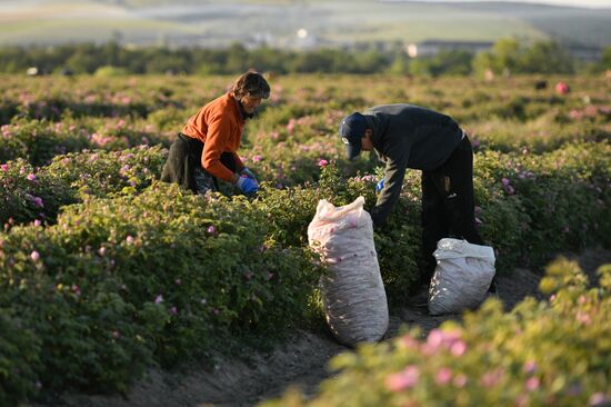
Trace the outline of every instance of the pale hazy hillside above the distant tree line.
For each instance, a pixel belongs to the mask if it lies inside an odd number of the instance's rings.
[[[312,48],[507,37],[601,48],[611,43],[611,8],[392,0],[0,2],[1,44],[114,39],[126,44]]]

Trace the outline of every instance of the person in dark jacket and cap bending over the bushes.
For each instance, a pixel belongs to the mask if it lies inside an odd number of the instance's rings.
[[[483,245],[475,228],[473,150],[449,116],[413,105],[375,106],[345,117],[339,133],[349,159],[375,150],[385,163],[384,178],[371,210],[374,226],[385,222],[399,200],[405,170],[422,171],[422,249],[428,285],[434,268],[437,242],[455,237]]]

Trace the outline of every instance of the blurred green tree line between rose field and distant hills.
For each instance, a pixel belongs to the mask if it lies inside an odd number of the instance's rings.
[[[489,50],[472,53],[441,50],[435,56],[409,58],[400,44],[354,49],[247,49],[236,43],[224,49],[160,47],[130,48],[111,41],[49,47],[1,47],[0,72],[22,73],[188,73],[236,75],[248,69],[278,73],[410,73],[417,76],[481,73],[574,73],[611,69],[611,46],[598,62],[572,58],[557,42],[523,44],[502,39]]]

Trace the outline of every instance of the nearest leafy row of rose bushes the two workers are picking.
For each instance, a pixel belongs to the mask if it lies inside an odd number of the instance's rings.
[[[499,272],[540,265],[554,250],[609,246],[610,150],[599,143],[477,156],[478,220]],[[22,216],[0,235],[9,349],[0,399],[124,389],[147,366],[206,353],[223,334],[262,335],[273,324],[281,331],[317,310],[310,305],[320,270],[304,249],[318,200],[375,201],[375,176],[348,178],[341,161],[319,162],[315,183],[267,182],[253,201],[203,199],[154,182],[166,155],[159,147],[91,151],[57,157],[39,171],[23,161],[0,171],[4,201],[16,205],[4,216]],[[394,215],[375,232],[392,304],[419,278],[419,190],[410,171]],[[23,191],[33,199],[11,198]]]

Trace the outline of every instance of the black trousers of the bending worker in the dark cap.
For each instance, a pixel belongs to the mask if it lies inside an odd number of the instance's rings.
[[[475,228],[474,206],[473,150],[464,136],[441,167],[422,171],[422,282],[431,280],[437,265],[433,251],[440,239],[455,237],[483,245]]]

